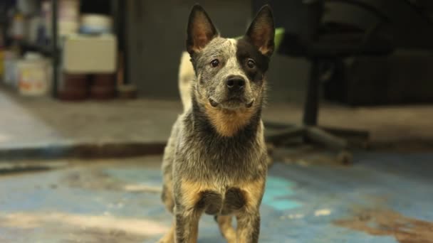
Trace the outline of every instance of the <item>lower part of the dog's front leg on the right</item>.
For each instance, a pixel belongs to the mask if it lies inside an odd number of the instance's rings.
[[[257,243],[260,234],[259,210],[242,212],[237,217],[236,239],[237,243]]]

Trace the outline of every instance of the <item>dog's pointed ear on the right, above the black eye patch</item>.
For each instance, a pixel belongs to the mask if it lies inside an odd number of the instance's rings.
[[[274,49],[273,38],[275,38],[275,26],[273,23],[272,10],[269,5],[261,7],[259,13],[257,13],[253,22],[246,31],[246,36],[263,55],[272,55]]]

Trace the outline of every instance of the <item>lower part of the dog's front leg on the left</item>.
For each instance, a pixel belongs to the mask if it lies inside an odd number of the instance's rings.
[[[197,234],[199,231],[199,212],[194,209],[178,209],[175,210],[176,217],[176,243],[196,243]]]

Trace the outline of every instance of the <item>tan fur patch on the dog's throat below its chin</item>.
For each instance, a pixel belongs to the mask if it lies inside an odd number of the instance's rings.
[[[209,103],[205,104],[205,110],[212,125],[221,136],[234,136],[249,123],[255,111],[253,107],[239,110],[216,109]]]

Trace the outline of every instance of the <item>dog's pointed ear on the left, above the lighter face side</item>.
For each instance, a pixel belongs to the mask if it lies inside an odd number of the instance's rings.
[[[213,38],[218,36],[218,31],[206,11],[198,4],[192,7],[189,13],[187,29],[187,50],[189,54],[199,52]]]

